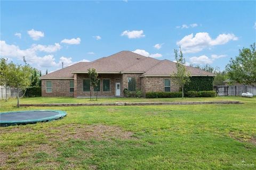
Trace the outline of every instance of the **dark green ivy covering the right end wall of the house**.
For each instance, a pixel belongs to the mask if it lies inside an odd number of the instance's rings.
[[[214,77],[190,77],[190,82],[184,86],[184,91],[212,91]]]

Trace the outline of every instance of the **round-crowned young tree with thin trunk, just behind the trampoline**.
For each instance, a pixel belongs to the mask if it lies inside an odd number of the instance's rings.
[[[17,89],[17,107],[20,107],[20,90],[25,90],[31,83],[31,75],[33,69],[27,64],[23,57],[23,66],[21,64],[14,64],[13,62],[8,64],[10,71],[8,72],[9,85]]]

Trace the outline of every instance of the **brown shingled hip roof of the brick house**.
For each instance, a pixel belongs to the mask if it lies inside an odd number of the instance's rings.
[[[177,71],[175,62],[170,60],[157,60],[131,51],[121,51],[92,62],[78,62],[72,66],[44,75],[41,79],[73,78],[74,73],[87,73],[89,68],[95,68],[99,74],[134,72],[141,73],[141,77],[170,76]],[[187,71],[190,72],[191,76],[214,76],[211,72],[194,67],[187,67]]]

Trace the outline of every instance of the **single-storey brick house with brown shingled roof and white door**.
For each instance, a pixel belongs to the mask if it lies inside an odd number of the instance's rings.
[[[129,91],[141,90],[143,95],[146,92],[179,91],[174,83],[175,77],[171,76],[177,71],[175,62],[121,51],[92,62],[78,62],[42,76],[42,96],[90,96],[89,68],[95,68],[99,75],[99,85],[94,88],[98,96],[123,96],[125,88]],[[191,76],[214,76],[194,67],[187,67],[187,70]]]

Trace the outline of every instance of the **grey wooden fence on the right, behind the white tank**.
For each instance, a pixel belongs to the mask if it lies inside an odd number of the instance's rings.
[[[218,96],[241,96],[242,93],[252,93],[256,95],[256,86],[247,86],[247,85],[238,85],[238,86],[213,86],[214,91],[217,93]]]

